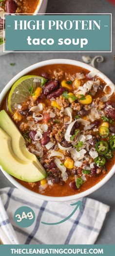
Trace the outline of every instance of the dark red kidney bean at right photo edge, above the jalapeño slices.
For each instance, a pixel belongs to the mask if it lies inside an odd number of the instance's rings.
[[[115,119],[115,102],[106,102],[104,110],[108,117]]]

